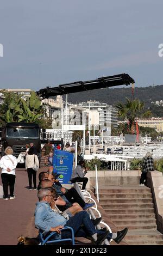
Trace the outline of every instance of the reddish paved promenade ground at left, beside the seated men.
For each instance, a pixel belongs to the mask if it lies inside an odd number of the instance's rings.
[[[47,169],[48,167],[41,168],[39,172]],[[28,190],[28,175],[22,168],[16,169],[15,195],[15,200],[0,199],[0,245],[17,245],[19,235],[36,237],[38,233],[34,228],[37,191]]]

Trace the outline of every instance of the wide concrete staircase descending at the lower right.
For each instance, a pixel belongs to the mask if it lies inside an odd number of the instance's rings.
[[[128,227],[129,245],[163,245],[156,230],[156,219],[150,188],[143,186],[103,186],[99,203],[118,230]]]

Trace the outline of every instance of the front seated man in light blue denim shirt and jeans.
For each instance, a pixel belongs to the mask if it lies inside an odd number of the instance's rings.
[[[54,212],[50,203],[52,200],[52,192],[47,188],[41,188],[37,194],[39,202],[36,203],[35,208],[35,225],[42,231],[43,235],[46,235],[49,231],[57,231],[60,234],[60,229],[65,226],[69,226],[74,230],[74,236],[76,237],[91,237],[95,245],[101,245],[101,243],[107,239],[114,239],[119,243],[123,237],[127,234],[127,228],[119,233],[109,233],[109,231],[96,230],[95,226],[91,222],[89,215],[85,211],[81,211],[69,220],[60,215],[58,212]],[[57,198],[55,198],[57,199]],[[70,232],[64,231],[62,238],[70,237]]]

